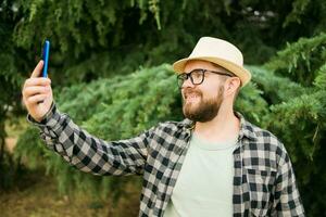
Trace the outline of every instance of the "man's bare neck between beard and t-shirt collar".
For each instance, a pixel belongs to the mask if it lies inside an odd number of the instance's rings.
[[[197,122],[195,132],[204,140],[223,142],[235,139],[240,130],[240,120],[236,117],[233,106],[221,104],[217,115],[210,122]]]

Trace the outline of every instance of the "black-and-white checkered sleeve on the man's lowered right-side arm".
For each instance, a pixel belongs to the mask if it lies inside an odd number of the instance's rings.
[[[276,188],[272,216],[304,216],[303,205],[296,183],[290,157],[286,150],[281,153],[276,177]]]

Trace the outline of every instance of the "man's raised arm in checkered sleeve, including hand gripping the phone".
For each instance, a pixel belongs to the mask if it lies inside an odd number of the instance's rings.
[[[39,77],[42,61],[23,87],[28,119],[41,130],[47,146],[78,169],[96,175],[141,174],[151,130],[129,140],[105,142],[80,129],[53,103],[51,80]]]

